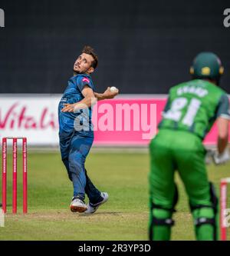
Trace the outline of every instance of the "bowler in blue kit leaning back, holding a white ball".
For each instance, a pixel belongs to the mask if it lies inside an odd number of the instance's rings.
[[[84,168],[87,155],[94,141],[91,122],[92,104],[97,100],[114,98],[117,92],[107,88],[103,94],[94,91],[90,74],[97,68],[98,57],[94,49],[85,46],[74,63],[74,76],[58,105],[59,140],[61,159],[74,186],[71,211],[93,214],[108,199],[107,192],[100,192],[90,181]],[[85,204],[85,194],[89,203]]]

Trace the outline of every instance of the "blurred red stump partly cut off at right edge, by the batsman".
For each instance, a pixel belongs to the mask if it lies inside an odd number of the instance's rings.
[[[225,211],[227,209],[227,187],[230,178],[222,178],[220,183],[220,236],[222,241],[227,240],[227,224],[225,221]]]

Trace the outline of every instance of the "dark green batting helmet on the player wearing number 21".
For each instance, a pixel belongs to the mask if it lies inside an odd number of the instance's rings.
[[[204,79],[210,78],[216,81],[219,80],[224,73],[222,62],[212,52],[201,52],[194,58],[190,74],[192,78]]]

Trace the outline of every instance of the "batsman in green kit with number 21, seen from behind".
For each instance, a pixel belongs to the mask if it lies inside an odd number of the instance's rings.
[[[218,240],[218,198],[205,168],[202,140],[216,121],[215,161],[229,160],[228,95],[218,86],[223,71],[217,55],[201,52],[190,68],[192,80],[169,90],[159,132],[149,145],[149,240],[170,239],[179,198],[175,171],[189,198],[195,238]]]

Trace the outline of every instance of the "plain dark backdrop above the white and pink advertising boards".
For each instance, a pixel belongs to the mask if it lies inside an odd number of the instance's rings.
[[[230,92],[229,1],[1,0],[0,92],[62,93],[84,45],[99,55],[97,91],[167,93],[201,51],[222,59]]]

